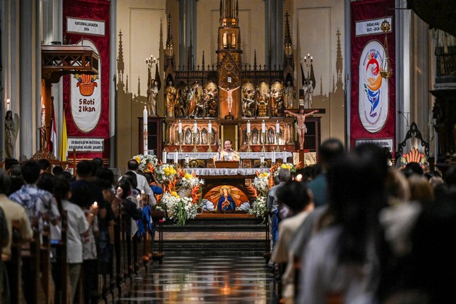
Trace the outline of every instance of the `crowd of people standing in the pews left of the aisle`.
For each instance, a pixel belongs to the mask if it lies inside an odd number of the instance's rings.
[[[37,297],[46,303],[98,303],[152,258],[151,214],[162,188],[137,161],[130,160],[118,180],[100,158],[79,161],[75,176],[45,159],[9,159],[5,165],[1,304],[37,303]],[[32,278],[40,282],[31,283]]]

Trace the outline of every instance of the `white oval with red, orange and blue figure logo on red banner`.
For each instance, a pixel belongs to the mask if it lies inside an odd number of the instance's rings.
[[[388,118],[388,81],[380,76],[385,51],[378,41],[369,41],[359,62],[359,116],[363,127],[375,133]]]

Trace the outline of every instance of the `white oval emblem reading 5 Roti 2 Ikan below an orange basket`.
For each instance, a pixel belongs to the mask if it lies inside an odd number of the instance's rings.
[[[91,41],[79,41],[78,46],[90,46],[100,54]],[[97,126],[101,114],[101,60],[98,75],[76,74],[71,76],[71,115],[79,131],[88,133]]]

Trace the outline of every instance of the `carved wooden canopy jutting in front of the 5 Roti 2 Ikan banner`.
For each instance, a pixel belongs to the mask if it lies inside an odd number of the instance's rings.
[[[63,75],[98,74],[98,59],[90,46],[41,46],[41,78],[58,83]]]

